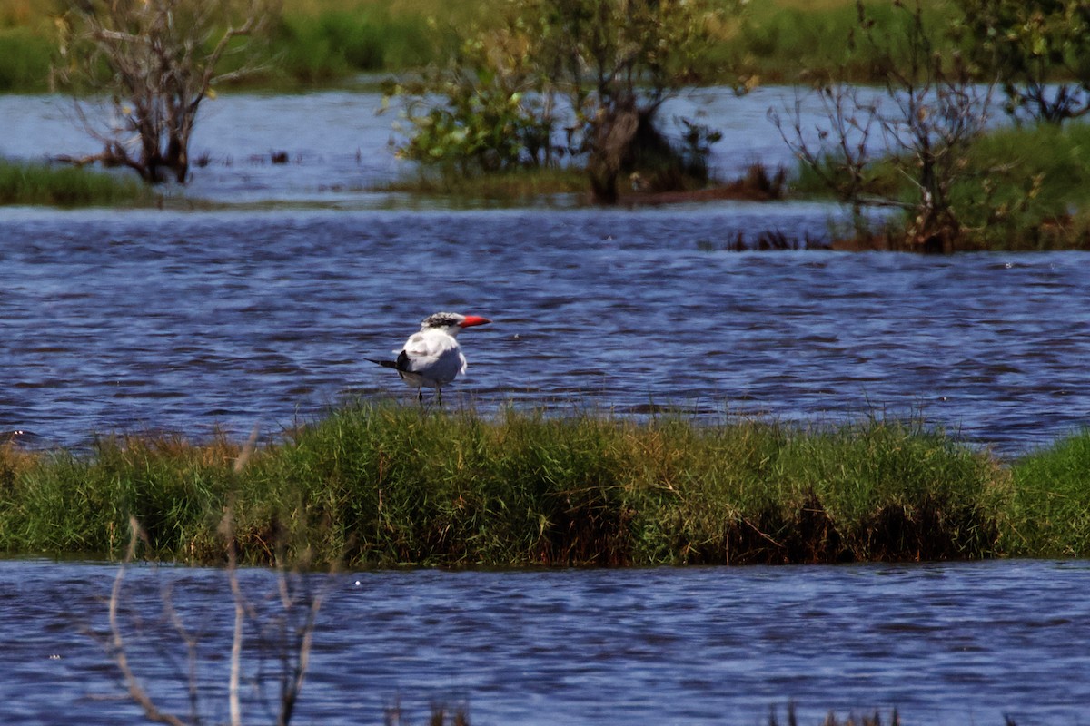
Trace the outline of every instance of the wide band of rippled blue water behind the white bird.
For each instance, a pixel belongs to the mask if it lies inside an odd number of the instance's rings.
[[[450,405],[837,420],[922,409],[1018,452],[1090,418],[1090,258],[736,253],[827,210],[73,211],[0,221],[0,429],[201,438],[405,398],[388,355],[467,331]]]

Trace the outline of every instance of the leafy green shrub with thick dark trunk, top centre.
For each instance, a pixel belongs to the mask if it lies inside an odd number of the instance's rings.
[[[726,20],[740,4],[712,0],[509,0],[451,62],[390,84],[411,130],[401,151],[462,171],[585,161],[594,198],[616,201],[622,173],[673,185],[697,172],[711,130],[679,147],[659,110],[711,67]],[[558,109],[562,108],[562,116]],[[555,132],[559,124],[564,140]],[[691,125],[690,128],[695,128]]]

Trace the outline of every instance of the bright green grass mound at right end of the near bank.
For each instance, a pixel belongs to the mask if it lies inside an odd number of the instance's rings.
[[[1025,457],[1013,478],[1003,551],[1024,557],[1090,555],[1090,431]]]

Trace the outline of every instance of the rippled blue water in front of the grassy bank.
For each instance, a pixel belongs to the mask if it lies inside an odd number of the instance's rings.
[[[0,563],[0,722],[141,721],[85,635],[106,627],[113,573]],[[255,604],[272,587],[268,573],[243,581]],[[155,622],[168,582],[201,639],[205,718],[226,722],[222,573],[130,573],[123,604],[144,617],[141,628],[123,618],[134,667],[156,698],[184,709],[184,662],[165,657],[179,649]],[[495,726],[756,725],[771,707],[784,723],[789,701],[814,725],[829,710],[879,709],[888,723],[896,707],[912,724],[1074,726],[1090,704],[1086,563],[425,570],[330,587],[296,724],[378,724],[398,700],[412,723],[441,702]],[[274,663],[256,633],[246,638],[253,684]]]

